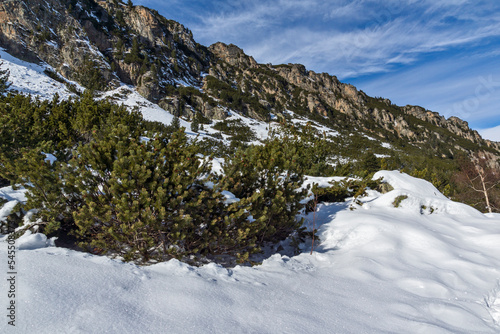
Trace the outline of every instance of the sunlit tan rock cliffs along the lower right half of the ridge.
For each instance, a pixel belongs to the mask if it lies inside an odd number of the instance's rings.
[[[493,145],[482,140],[476,131],[459,119],[447,120],[419,106],[398,107],[388,99],[373,99],[335,76],[308,71],[300,64],[257,64],[237,46],[223,43],[212,45],[210,51],[216,58],[209,74],[239,88],[246,87],[268,109],[273,109],[272,101],[279,101],[285,108],[291,108],[292,102],[296,102],[295,105],[298,103],[309,113],[327,118],[332,112],[340,112],[359,128],[368,130],[368,122],[373,124],[370,131],[383,129],[410,142],[420,143],[431,138],[441,140],[439,131],[436,131],[439,127],[473,143]],[[383,133],[375,134],[384,136]]]

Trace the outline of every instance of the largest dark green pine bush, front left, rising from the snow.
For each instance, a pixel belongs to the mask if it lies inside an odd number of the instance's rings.
[[[83,198],[82,246],[139,262],[250,252],[244,203],[226,206],[208,173],[182,131],[144,141],[123,125],[80,147],[65,182]]]

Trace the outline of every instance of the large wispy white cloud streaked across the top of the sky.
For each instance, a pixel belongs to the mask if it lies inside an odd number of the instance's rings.
[[[375,3],[235,1],[231,10],[201,16],[192,29],[210,43],[238,44],[261,62],[301,62],[340,78],[384,72],[394,64],[414,62],[420,54],[500,36],[490,2]],[[461,24],[446,23],[443,17]],[[351,23],[348,29],[346,22]]]

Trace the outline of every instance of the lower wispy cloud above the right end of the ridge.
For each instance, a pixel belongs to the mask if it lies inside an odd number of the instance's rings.
[[[414,104],[467,120],[479,129],[500,124],[500,68],[496,58],[434,60],[351,83],[399,105]]]

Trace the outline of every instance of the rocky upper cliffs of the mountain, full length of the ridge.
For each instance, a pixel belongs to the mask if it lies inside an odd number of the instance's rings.
[[[230,108],[267,120],[292,110],[390,141],[431,148],[444,142],[443,155],[453,156],[447,152],[454,149],[500,152],[498,143],[482,139],[459,118],[393,105],[300,64],[258,64],[235,45],[204,47],[181,24],[121,1],[3,1],[0,46],[92,90],[132,85],[187,119],[197,112],[223,119]]]

